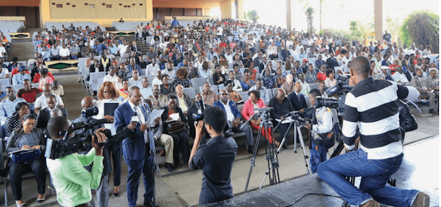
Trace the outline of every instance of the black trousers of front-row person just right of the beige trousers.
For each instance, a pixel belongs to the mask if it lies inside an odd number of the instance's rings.
[[[189,138],[187,131],[181,131],[180,133],[172,133],[171,134],[173,138],[173,160],[174,164],[179,164],[179,152],[182,152],[182,157],[184,163],[188,163],[189,157],[190,157],[190,151],[189,151]]]

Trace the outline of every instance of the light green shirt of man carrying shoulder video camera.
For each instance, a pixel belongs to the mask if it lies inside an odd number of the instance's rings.
[[[95,156],[95,149],[91,149],[87,155],[73,153],[55,160],[46,158],[59,204],[78,206],[92,200],[90,189],[98,188],[101,182],[103,159],[103,156]],[[83,166],[92,162],[94,165],[90,173]]]

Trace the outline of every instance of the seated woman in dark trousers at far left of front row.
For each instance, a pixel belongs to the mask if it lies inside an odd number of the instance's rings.
[[[23,175],[26,169],[32,170],[37,180],[37,188],[39,190],[39,196],[37,202],[44,201],[44,190],[46,184],[46,166],[44,162],[44,156],[41,155],[45,150],[46,140],[43,137],[43,131],[41,129],[34,129],[36,118],[34,115],[27,115],[23,118],[22,126],[12,132],[8,144],[6,144],[6,152],[12,153],[19,150],[39,150],[40,156],[37,160],[30,162],[10,162],[9,175],[12,193],[15,197],[15,203],[17,206],[25,206],[21,195],[21,175]]]

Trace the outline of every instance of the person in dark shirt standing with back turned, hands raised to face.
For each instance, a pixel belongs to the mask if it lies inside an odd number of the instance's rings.
[[[193,170],[203,168],[199,206],[233,197],[230,175],[238,148],[233,138],[225,138],[223,135],[227,124],[223,109],[207,107],[203,116],[205,121],[201,120],[196,125],[196,137],[188,162],[189,168]],[[199,146],[205,132],[212,138]]]

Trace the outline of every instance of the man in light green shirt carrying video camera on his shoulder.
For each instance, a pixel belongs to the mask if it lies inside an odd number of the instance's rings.
[[[70,121],[63,116],[56,116],[51,118],[48,122],[48,131],[53,140],[62,139],[60,132],[67,131],[70,127]],[[52,182],[57,190],[57,200],[61,206],[88,206],[92,200],[91,189],[98,188],[101,175],[103,173],[103,148],[98,146],[98,143],[105,142],[105,135],[99,131],[95,131],[92,139],[92,146],[87,155],[79,155],[73,153],[52,160],[46,158],[46,163]],[[73,133],[69,133],[68,138],[72,137]],[[83,166],[92,166],[92,172],[88,172]]]

